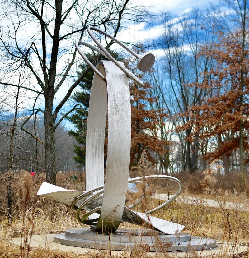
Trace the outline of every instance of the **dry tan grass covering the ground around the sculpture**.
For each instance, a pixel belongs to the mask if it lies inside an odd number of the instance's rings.
[[[138,172],[139,169],[136,171]],[[144,173],[144,172],[143,172]],[[58,174],[57,184],[61,187],[74,190],[84,189],[84,180],[77,175],[77,180],[70,180],[70,176],[73,173]],[[215,176],[213,174],[206,174],[209,177]],[[145,246],[138,246],[132,252],[121,254],[114,254],[109,252],[96,252],[88,253],[83,256],[79,256],[73,253],[65,253],[62,251],[52,251],[50,249],[32,248],[29,246],[29,240],[34,234],[47,234],[47,233],[61,233],[66,228],[80,228],[82,224],[78,223],[74,218],[74,213],[69,206],[46,200],[36,196],[36,192],[45,179],[44,175],[40,175],[40,179],[36,178],[36,182],[32,181],[28,172],[22,172],[16,176],[16,181],[13,183],[13,222],[7,223],[6,216],[6,200],[2,195],[0,197],[0,204],[2,205],[0,214],[0,257],[53,257],[53,258],[66,258],[66,257],[147,257],[150,256],[146,252]],[[178,176],[179,177],[179,176]],[[198,194],[200,201],[204,198],[212,198],[217,201],[218,208],[212,208],[204,205],[196,205],[195,200],[189,204],[182,202],[173,202],[169,206],[162,210],[159,210],[153,214],[153,216],[173,221],[186,225],[185,232],[200,237],[215,238],[219,242],[236,243],[236,245],[248,245],[249,243],[249,213],[242,211],[240,204],[248,204],[248,196],[246,193],[241,193],[235,189],[222,189],[216,188],[215,184],[208,184],[201,186],[200,181],[205,180],[205,174],[198,175],[199,185],[197,182],[183,181],[183,185],[188,185],[188,190],[183,189],[184,196],[190,196],[193,193],[193,189],[198,188]],[[181,177],[180,177],[181,178]],[[211,180],[212,181],[212,180]],[[214,182],[214,181],[213,181]],[[218,182],[218,179],[217,179]],[[157,184],[156,181],[148,182],[151,189],[147,189],[147,195],[160,191],[164,193],[173,193],[174,186],[170,186],[167,183]],[[192,188],[190,187],[192,185]],[[194,187],[195,186],[195,187]],[[5,185],[3,184],[3,187]],[[3,188],[2,188],[3,189]],[[190,190],[189,190],[190,189]],[[214,190],[215,189],[215,190]],[[141,191],[145,191],[141,186]],[[202,193],[201,193],[202,191]],[[132,201],[132,199],[130,200]],[[225,202],[232,201],[233,206],[231,209],[227,209]],[[161,204],[162,201],[147,198],[137,209],[139,211],[149,210],[151,207]],[[149,205],[148,205],[149,204]],[[122,223],[121,227],[137,228],[129,223]],[[14,246],[8,244],[9,239],[13,237],[23,237],[24,241],[22,246]],[[157,257],[171,257],[168,253],[157,253]],[[188,257],[195,257],[194,254],[188,255]],[[223,257],[223,256],[219,256]],[[239,256],[235,255],[235,252],[227,253],[225,257],[248,258],[248,253],[241,253]]]

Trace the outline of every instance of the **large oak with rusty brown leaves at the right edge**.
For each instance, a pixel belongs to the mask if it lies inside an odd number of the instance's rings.
[[[242,181],[244,164],[249,161],[249,51],[238,40],[243,42],[248,37],[248,32],[244,32],[220,37],[217,44],[203,50],[201,54],[216,60],[216,67],[206,74],[210,79],[198,85],[209,90],[209,97],[201,105],[192,107],[190,112],[196,117],[191,120],[195,131],[190,140],[204,127],[200,135],[202,142],[217,141],[215,148],[209,145],[205,158],[210,162],[222,159],[225,173],[228,173],[231,165],[229,158],[237,154]]]

